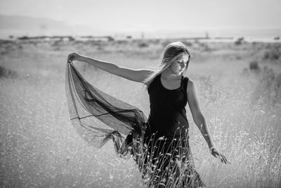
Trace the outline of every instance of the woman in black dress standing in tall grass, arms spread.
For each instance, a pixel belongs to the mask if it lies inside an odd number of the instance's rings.
[[[228,163],[211,139],[197,99],[195,83],[188,77],[183,77],[190,62],[190,52],[182,42],[166,46],[157,70],[124,68],[77,53],[70,54],[68,61],[84,61],[108,73],[147,86],[150,115],[143,138],[145,155],[137,161],[149,186],[204,186],[195,170],[188,144],[186,104],[189,105],[192,118],[206,140],[211,154],[221,158],[223,163]]]

